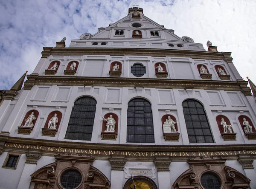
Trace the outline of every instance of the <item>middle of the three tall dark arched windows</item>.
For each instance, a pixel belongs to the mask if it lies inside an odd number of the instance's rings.
[[[133,99],[128,103],[127,142],[154,143],[151,104],[145,99]]]

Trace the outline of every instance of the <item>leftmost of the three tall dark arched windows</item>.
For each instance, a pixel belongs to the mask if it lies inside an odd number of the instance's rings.
[[[76,100],[68,122],[65,139],[91,140],[96,104],[96,100],[89,96],[83,96]]]

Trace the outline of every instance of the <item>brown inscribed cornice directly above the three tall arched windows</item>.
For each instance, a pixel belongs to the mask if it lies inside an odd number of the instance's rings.
[[[185,88],[207,90],[234,90],[250,91],[247,81],[218,81],[218,80],[191,80],[191,79],[155,79],[155,78],[113,78],[113,77],[81,77],[81,76],[38,76],[28,75],[24,89],[30,90],[34,85],[61,85],[61,86],[107,86],[107,87],[153,87],[153,88]],[[244,93],[244,95],[251,95]]]

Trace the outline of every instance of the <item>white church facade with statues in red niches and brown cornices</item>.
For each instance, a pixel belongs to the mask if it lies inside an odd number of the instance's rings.
[[[256,97],[230,52],[137,7],[65,39],[1,91],[0,188],[256,188]]]

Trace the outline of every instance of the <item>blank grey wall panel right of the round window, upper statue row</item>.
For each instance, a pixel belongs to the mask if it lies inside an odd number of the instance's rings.
[[[190,63],[173,62],[172,66],[175,79],[195,79]]]

